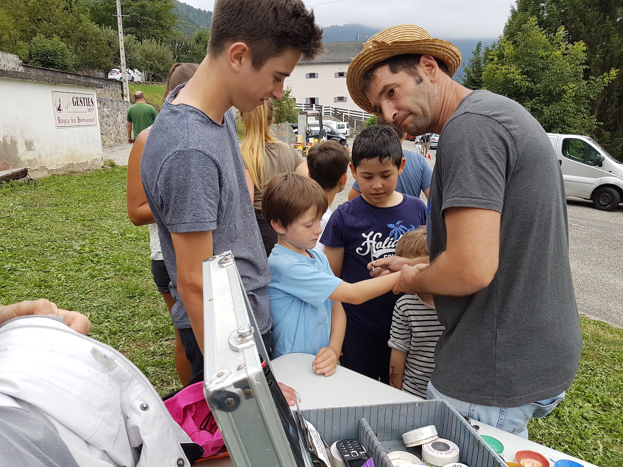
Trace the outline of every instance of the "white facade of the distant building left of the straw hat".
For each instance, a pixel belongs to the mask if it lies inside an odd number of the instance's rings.
[[[361,110],[351,99],[346,88],[346,78],[336,78],[336,72],[346,72],[350,63],[321,64],[298,63],[285,85],[292,86],[297,104],[305,104],[305,98],[316,97],[320,105]],[[307,73],[318,73],[318,78],[306,78]],[[335,102],[335,97],[346,97],[346,102]]]

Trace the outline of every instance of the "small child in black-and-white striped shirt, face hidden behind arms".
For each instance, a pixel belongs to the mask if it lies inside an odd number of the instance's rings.
[[[429,255],[426,227],[406,232],[398,240],[396,255]],[[432,295],[407,294],[396,302],[389,331],[389,384],[426,399],[426,385],[435,369],[435,345],[444,326],[437,319]]]

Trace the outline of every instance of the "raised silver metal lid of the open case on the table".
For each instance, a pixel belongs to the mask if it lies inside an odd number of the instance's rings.
[[[311,467],[232,253],[208,258],[202,268],[203,390],[234,466]]]

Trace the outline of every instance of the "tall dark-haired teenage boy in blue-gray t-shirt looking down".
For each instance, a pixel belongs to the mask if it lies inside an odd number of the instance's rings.
[[[207,56],[169,96],[141,158],[141,179],[171,276],[173,323],[194,375],[203,369],[201,263],[232,250],[270,349],[267,265],[238,146],[235,108],[279,99],[322,32],[301,0],[219,0]]]

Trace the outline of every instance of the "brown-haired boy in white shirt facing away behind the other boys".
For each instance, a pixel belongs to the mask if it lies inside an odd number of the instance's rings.
[[[323,232],[333,212],[331,204],[333,204],[335,195],[344,191],[346,187],[348,163],[350,163],[348,151],[333,139],[315,144],[307,151],[307,167],[310,177],[320,184],[329,202],[329,207],[326,208],[326,212],[320,220],[320,227]],[[320,237],[322,238],[322,234]],[[316,243],[316,248],[321,252],[325,251],[325,245],[320,241]]]

